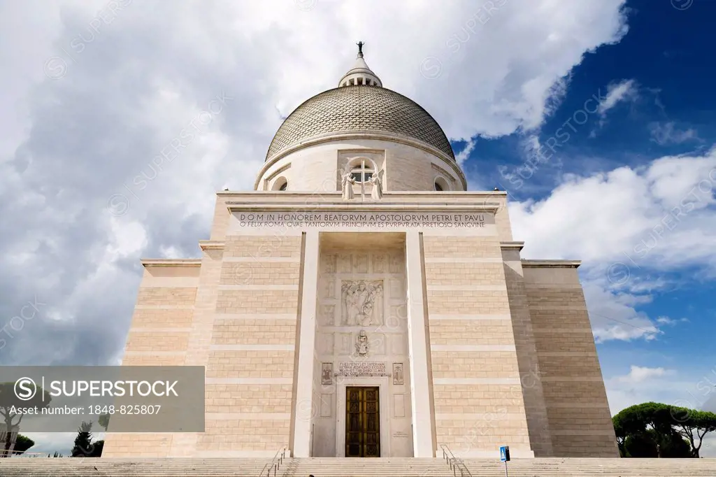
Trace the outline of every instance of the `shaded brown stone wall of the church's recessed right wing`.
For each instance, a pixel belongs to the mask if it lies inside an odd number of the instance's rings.
[[[554,456],[618,457],[576,264],[523,268]]]

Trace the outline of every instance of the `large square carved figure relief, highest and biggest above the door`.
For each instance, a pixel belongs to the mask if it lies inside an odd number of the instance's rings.
[[[383,322],[383,282],[380,280],[344,281],[341,286],[342,323],[349,327],[367,327]]]

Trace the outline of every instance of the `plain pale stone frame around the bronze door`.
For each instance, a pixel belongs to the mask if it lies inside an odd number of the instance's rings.
[[[389,376],[339,377],[336,403],[336,457],[346,456],[346,387],[377,387],[380,403],[380,457],[390,457]]]

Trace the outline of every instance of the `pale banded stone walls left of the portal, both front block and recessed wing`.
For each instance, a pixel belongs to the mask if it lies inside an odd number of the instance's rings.
[[[123,364],[205,366],[205,432],[110,433],[105,456],[270,458],[289,445],[301,235],[200,244],[193,268],[147,268]]]

